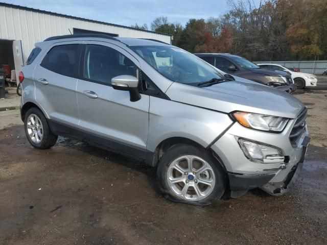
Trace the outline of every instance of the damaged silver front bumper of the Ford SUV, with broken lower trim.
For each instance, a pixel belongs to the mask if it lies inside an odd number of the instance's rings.
[[[278,134],[247,129],[235,122],[212,145],[216,157],[219,157],[227,170],[231,197],[241,197],[256,187],[269,194],[280,195],[294,186],[310,141],[306,117],[305,108]],[[259,145],[258,147],[265,146],[265,151],[275,151],[278,154],[268,154],[263,161],[250,159],[242,140],[247,141],[247,144]]]

